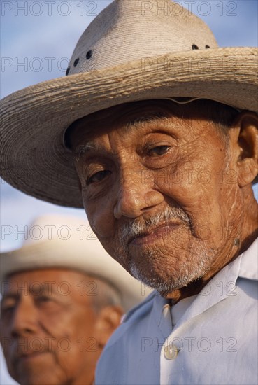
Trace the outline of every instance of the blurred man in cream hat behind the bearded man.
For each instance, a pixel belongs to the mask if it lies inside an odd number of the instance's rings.
[[[78,218],[43,216],[32,239],[1,254],[1,344],[19,384],[93,384],[122,312],[143,299],[87,230]]]

